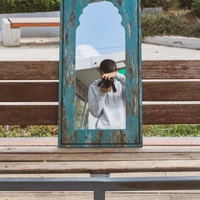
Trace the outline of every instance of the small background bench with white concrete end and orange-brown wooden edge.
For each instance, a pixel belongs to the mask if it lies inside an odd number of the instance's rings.
[[[59,17],[3,18],[2,42],[6,47],[20,46],[21,27],[60,26]]]

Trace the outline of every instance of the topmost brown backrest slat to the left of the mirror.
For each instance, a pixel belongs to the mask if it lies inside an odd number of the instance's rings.
[[[58,80],[58,61],[1,61],[0,80]]]

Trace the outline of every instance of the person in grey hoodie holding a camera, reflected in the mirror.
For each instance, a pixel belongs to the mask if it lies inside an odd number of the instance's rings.
[[[88,107],[97,118],[96,129],[125,129],[126,77],[117,72],[117,64],[111,59],[101,62],[100,75],[88,91]]]

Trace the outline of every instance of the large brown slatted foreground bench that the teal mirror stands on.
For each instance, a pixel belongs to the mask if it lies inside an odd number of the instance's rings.
[[[144,125],[199,124],[199,66],[199,60],[143,61]],[[57,61],[0,62],[0,79],[0,124],[57,125]],[[26,141],[18,141],[24,145],[5,143],[0,147],[0,191],[94,191],[95,200],[102,200],[105,191],[200,188],[198,144],[155,144],[141,149],[58,149],[26,146]],[[139,173],[142,177],[124,178],[122,174],[121,178],[108,177],[111,173],[125,172]],[[91,177],[60,178],[71,173]],[[146,176],[148,173],[161,173],[161,177]],[[166,177],[166,173],[172,174]],[[14,174],[18,174],[14,179],[6,176]],[[20,174],[23,177],[27,174],[26,179],[17,178],[22,177]],[[54,178],[31,178],[38,174],[54,174]]]

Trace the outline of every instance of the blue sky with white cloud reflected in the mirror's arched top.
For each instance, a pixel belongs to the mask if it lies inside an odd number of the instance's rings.
[[[112,3],[104,1],[89,4],[79,21],[76,31],[77,58],[124,51],[122,18]]]

